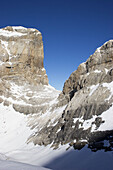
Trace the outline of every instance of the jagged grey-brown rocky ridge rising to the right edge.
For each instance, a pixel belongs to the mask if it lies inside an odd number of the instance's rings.
[[[39,138],[35,137],[37,143],[53,142],[54,147],[70,143],[80,149],[85,144],[94,148],[94,142],[112,141],[113,126],[109,121],[113,112],[113,40],[98,48],[71,74],[59,103],[63,105],[64,99],[67,107],[61,118],[55,126],[41,129]]]

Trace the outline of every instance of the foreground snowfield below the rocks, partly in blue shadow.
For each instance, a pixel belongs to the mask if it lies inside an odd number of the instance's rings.
[[[2,108],[2,107],[0,107]],[[7,107],[4,107],[7,110]],[[3,108],[2,108],[3,109]],[[1,112],[2,111],[2,112]],[[14,112],[14,113],[13,113]],[[98,151],[96,153],[91,152],[87,147],[78,151],[69,149],[66,151],[68,145],[60,146],[57,150],[53,150],[51,145],[48,146],[34,146],[32,143],[27,144],[24,143],[26,133],[29,136],[29,132],[31,131],[29,128],[25,128],[26,125],[26,118],[23,114],[19,114],[11,109],[11,112],[6,112],[3,117],[1,116],[4,113],[4,110],[0,110],[0,120],[1,121],[9,121],[7,129],[8,133],[12,131],[13,137],[12,140],[9,141],[10,135],[8,138],[5,137],[5,134],[1,136],[0,139],[0,170],[43,170],[43,167],[47,167],[54,170],[83,170],[84,167],[87,170],[111,170],[113,168],[113,156],[112,152],[103,152]],[[8,118],[6,119],[6,114]],[[13,114],[13,116],[11,116]],[[14,115],[15,114],[15,115]],[[11,116],[11,118],[10,118]],[[1,119],[2,118],[2,119]],[[17,119],[15,119],[17,118]],[[13,123],[11,120],[14,120]],[[21,129],[19,123],[21,122]],[[6,122],[7,123],[7,122]],[[24,125],[25,124],[25,125]],[[6,129],[5,126],[0,126],[2,128],[2,132]],[[22,132],[20,133],[20,131]],[[27,131],[27,132],[26,132]],[[20,133],[18,135],[17,133]],[[22,135],[23,133],[23,135]],[[5,139],[4,139],[5,138]],[[16,139],[15,139],[16,138]],[[20,139],[19,139],[20,138]],[[19,140],[19,142],[18,142]],[[23,144],[22,144],[23,140]],[[82,142],[84,140],[81,140]],[[21,145],[19,144],[21,142]],[[76,140],[74,140],[76,142]],[[12,144],[11,144],[12,143]],[[106,142],[105,142],[106,145]],[[6,161],[3,161],[5,160]],[[12,161],[11,161],[12,160]],[[82,160],[82,161],[80,161]],[[19,163],[21,162],[21,163]],[[24,164],[23,164],[24,163]],[[26,163],[26,164],[25,164]],[[28,165],[29,164],[29,165]],[[43,166],[43,167],[42,167]]]

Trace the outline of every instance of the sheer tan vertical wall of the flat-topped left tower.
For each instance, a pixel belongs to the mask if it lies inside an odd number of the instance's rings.
[[[42,35],[36,29],[0,29],[0,77],[25,78],[30,83],[48,84],[43,66]]]

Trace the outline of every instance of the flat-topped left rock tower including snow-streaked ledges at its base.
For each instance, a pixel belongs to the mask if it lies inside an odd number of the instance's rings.
[[[25,115],[46,112],[59,92],[48,84],[43,59],[42,35],[38,30],[21,26],[0,29],[0,103],[3,106],[12,106]]]

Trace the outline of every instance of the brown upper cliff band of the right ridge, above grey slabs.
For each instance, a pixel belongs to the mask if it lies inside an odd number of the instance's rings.
[[[113,40],[106,42],[79,65],[63,87],[63,94],[73,95],[83,87],[113,81]],[[99,74],[100,73],[100,74]]]

